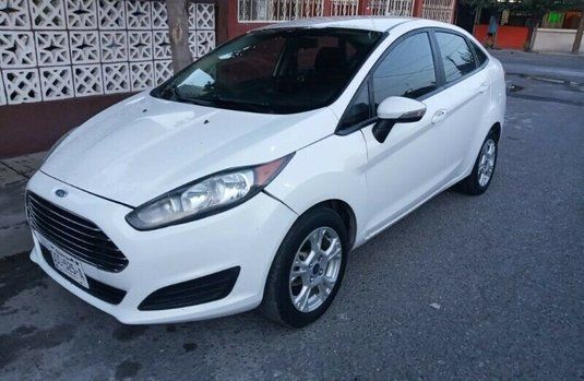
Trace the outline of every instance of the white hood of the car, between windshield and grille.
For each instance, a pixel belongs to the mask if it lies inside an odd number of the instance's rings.
[[[134,95],[67,136],[40,170],[138,206],[215,171],[270,162],[334,131],[329,108],[263,115]]]

